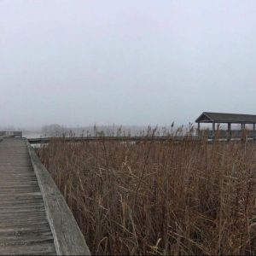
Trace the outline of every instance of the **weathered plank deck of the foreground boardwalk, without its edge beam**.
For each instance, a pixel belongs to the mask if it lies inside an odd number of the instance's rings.
[[[26,141],[0,143],[0,253],[55,254]]]

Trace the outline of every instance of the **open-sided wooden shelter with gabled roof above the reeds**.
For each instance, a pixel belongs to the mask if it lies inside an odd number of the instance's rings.
[[[227,124],[229,137],[231,136],[231,124],[241,125],[241,131],[245,130],[245,125],[251,124],[253,125],[253,137],[255,137],[256,115],[254,114],[203,112],[195,123],[198,124],[198,135],[200,135],[201,123],[212,123],[212,137],[215,136],[216,124]]]

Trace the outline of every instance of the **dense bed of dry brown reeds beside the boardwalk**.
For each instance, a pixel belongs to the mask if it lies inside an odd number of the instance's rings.
[[[38,155],[93,254],[255,254],[254,143],[65,143]]]

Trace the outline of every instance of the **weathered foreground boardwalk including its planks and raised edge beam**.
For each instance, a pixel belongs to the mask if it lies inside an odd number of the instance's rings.
[[[60,191],[24,139],[0,143],[0,254],[90,254]]]

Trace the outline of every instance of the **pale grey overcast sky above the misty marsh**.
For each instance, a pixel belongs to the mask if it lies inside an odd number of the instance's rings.
[[[256,114],[256,1],[0,0],[0,125]]]

